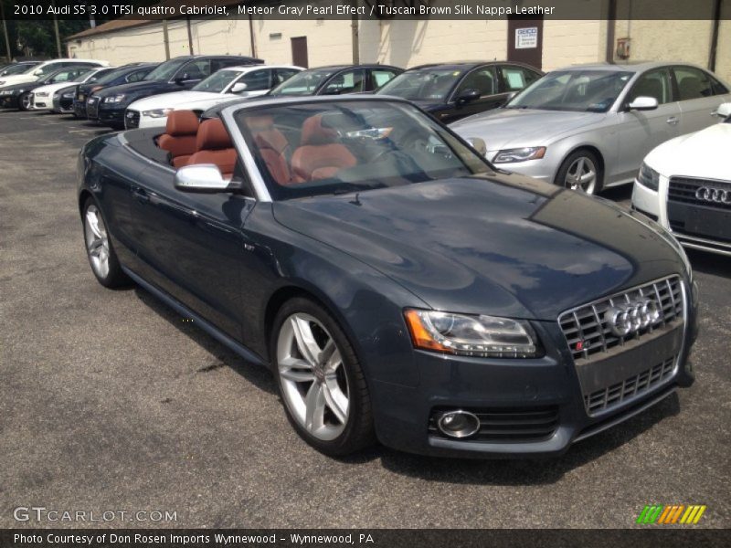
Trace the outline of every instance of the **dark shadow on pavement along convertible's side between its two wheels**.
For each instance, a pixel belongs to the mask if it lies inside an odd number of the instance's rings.
[[[243,359],[237,353],[228,349],[227,346],[211,337],[207,332],[197,327],[195,323],[181,321],[180,314],[146,290],[143,290],[139,286],[134,286],[133,290],[137,298],[142,300],[150,310],[154,311],[165,321],[168,321],[176,330],[184,333],[185,336],[192,339],[193,342],[196,342],[196,344],[206,349],[208,353],[211,353],[216,358],[214,364],[201,364],[201,368],[198,369],[199,373],[206,373],[219,367],[230,367],[260,390],[268,392],[271,395],[278,394],[274,378],[267,368],[259,364],[252,364]]]

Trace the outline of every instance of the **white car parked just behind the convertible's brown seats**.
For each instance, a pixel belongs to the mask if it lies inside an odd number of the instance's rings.
[[[124,126],[164,127],[172,111],[206,111],[219,103],[242,97],[257,97],[290,79],[302,67],[292,65],[254,65],[221,68],[191,90],[153,95],[134,101],[124,112]]]

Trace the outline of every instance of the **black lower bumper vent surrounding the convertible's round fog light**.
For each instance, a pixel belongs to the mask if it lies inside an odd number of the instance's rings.
[[[455,439],[445,436],[437,427],[443,413],[454,408],[434,409],[429,417],[429,436]],[[489,409],[470,409],[480,419],[480,430],[461,441],[482,441],[490,443],[534,443],[553,437],[558,427],[558,407],[506,407]]]

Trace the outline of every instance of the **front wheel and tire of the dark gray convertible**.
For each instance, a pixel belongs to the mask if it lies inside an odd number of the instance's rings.
[[[270,356],[282,406],[304,441],[330,457],[376,442],[363,370],[322,306],[305,298],[285,302],[274,319]]]

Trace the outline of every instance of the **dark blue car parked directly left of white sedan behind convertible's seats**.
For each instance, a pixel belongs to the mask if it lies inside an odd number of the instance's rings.
[[[135,100],[190,90],[220,68],[260,65],[264,61],[245,56],[183,56],[172,58],[154,68],[144,79],[94,92],[87,100],[87,116],[114,129],[124,127],[124,111]]]

